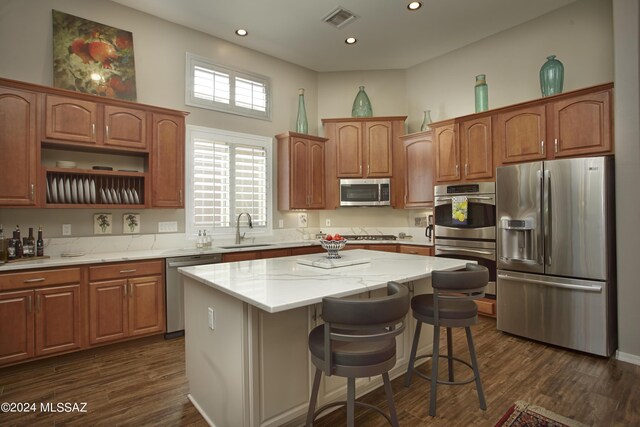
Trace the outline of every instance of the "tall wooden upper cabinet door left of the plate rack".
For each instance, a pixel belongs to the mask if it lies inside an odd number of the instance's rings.
[[[37,99],[34,92],[0,86],[0,206],[35,206]]]

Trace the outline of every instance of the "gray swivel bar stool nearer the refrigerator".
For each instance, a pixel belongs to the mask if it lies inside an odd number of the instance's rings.
[[[480,409],[486,410],[487,403],[484,399],[484,390],[480,381],[480,371],[478,370],[478,360],[471,337],[471,325],[478,322],[478,307],[473,300],[484,296],[484,289],[489,282],[489,270],[486,267],[467,264],[464,270],[458,271],[434,271],[431,276],[433,294],[416,295],[411,298],[411,309],[413,317],[418,320],[416,332],[413,336],[413,346],[411,347],[411,357],[409,367],[405,377],[405,387],[411,385],[411,376],[415,372],[431,381],[431,399],[429,404],[429,415],[436,416],[436,385],[462,385],[475,380],[478,389],[478,399]],[[422,323],[433,325],[433,354],[416,357],[418,341],[420,340],[420,328]],[[440,327],[447,328],[447,354],[440,355]],[[471,363],[453,356],[453,342],[451,328],[464,327],[467,333],[467,345]],[[431,357],[431,376],[427,376],[414,368],[416,360]],[[438,359],[447,359],[449,368],[449,380],[438,379]],[[460,362],[473,370],[473,377],[464,381],[454,381],[453,362]],[[432,379],[435,378],[435,381]]]

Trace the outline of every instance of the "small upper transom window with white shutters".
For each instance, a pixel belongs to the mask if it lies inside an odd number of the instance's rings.
[[[187,105],[271,120],[268,77],[187,53],[186,86]]]

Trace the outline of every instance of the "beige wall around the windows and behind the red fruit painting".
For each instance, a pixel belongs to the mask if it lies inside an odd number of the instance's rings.
[[[133,33],[136,86],[141,103],[189,111],[188,125],[273,136],[295,128],[298,88],[302,87],[305,88],[309,133],[317,135],[317,73],[107,0],[0,1],[1,77],[49,86],[53,84],[52,9]],[[186,106],[186,52],[270,77],[273,89],[272,120],[249,119]],[[275,177],[274,167],[274,182]],[[275,197],[274,206],[277,206]],[[20,223],[23,227],[42,223],[49,230],[49,237],[60,236],[61,225],[71,223],[73,236],[86,236],[93,234],[90,228],[93,213],[93,210],[85,209],[48,210],[46,214],[41,210],[0,209],[0,222]],[[115,218],[117,212],[113,213]],[[285,227],[295,227],[291,215],[276,211],[274,217],[276,226],[278,220],[283,219]],[[317,215],[310,216],[310,225],[317,221],[314,218]],[[177,221],[179,230],[184,231],[183,210],[146,209],[143,211],[143,221],[143,233],[155,232],[158,221]],[[114,233],[118,234],[118,230],[114,229]]]

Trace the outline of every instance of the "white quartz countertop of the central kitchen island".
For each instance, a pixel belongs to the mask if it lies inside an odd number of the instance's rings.
[[[276,313],[319,303],[326,296],[343,297],[383,288],[389,281],[402,283],[427,278],[434,270],[458,270],[468,262],[364,249],[340,254],[345,260],[366,258],[371,262],[332,269],[297,262],[299,258],[314,260],[325,256],[312,254],[182,267],[178,271],[264,311]]]

